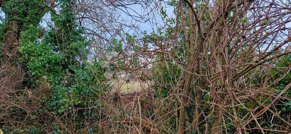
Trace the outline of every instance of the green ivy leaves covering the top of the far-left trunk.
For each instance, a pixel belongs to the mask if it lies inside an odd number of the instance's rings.
[[[1,11],[5,17],[0,18],[0,53],[2,54],[2,41],[6,29],[11,25],[13,20],[19,23],[20,31],[30,30],[31,26],[38,27],[44,15],[44,11],[48,8],[47,4],[42,0],[3,0]],[[17,30],[17,29],[14,29]],[[37,31],[34,31],[37,32]],[[0,54],[0,55],[1,55]]]

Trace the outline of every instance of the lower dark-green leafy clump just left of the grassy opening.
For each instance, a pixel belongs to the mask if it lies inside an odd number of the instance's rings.
[[[73,108],[85,108],[91,107],[98,101],[96,93],[100,93],[103,90],[108,89],[106,85],[99,83],[98,80],[105,80],[104,76],[101,76],[92,71],[92,66],[89,68],[86,66],[83,69],[76,71],[74,76],[68,78],[67,86],[56,85],[47,99],[48,108],[52,108],[54,114],[61,114],[68,112]]]

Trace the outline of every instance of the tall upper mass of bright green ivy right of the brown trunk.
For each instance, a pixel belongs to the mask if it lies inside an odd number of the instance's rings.
[[[39,40],[41,28],[30,24],[27,26],[29,30],[22,31],[19,45],[19,52],[23,55],[20,60],[31,74],[45,75],[51,84],[64,82],[68,72],[74,74],[86,53],[85,38],[72,21],[74,14],[67,10],[68,1],[61,2],[64,3],[61,6],[63,10],[59,14],[51,13],[54,23],[48,25],[49,31],[43,38]]]

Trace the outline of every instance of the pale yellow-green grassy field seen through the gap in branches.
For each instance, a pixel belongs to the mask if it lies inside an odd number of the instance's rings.
[[[130,81],[129,83],[126,83],[124,81],[120,81],[113,82],[113,86],[115,90],[120,89],[120,93],[132,93],[134,91],[141,91],[148,88],[148,83],[139,81]]]

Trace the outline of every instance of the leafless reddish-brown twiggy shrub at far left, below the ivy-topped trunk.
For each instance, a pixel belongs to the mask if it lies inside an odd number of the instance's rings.
[[[45,84],[40,84],[34,89],[15,87],[19,86],[17,83],[25,80],[24,75],[18,73],[19,71],[11,66],[0,67],[0,124],[16,129],[37,121],[34,119],[38,119],[39,100],[48,89]]]

